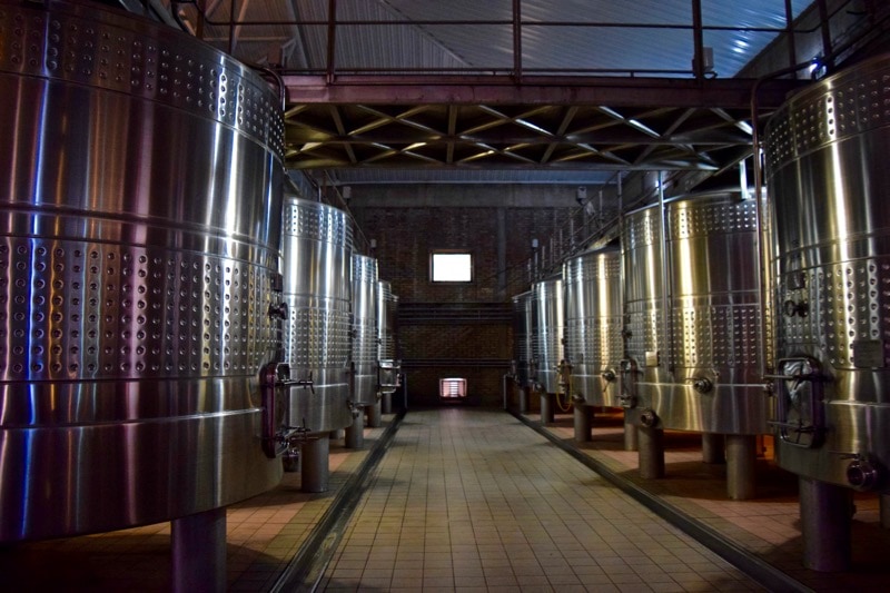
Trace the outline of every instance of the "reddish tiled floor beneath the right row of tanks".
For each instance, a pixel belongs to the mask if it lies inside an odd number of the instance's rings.
[[[642,480],[637,473],[637,453],[623,451],[623,426],[617,415],[612,416],[611,422],[607,416],[600,426],[594,427],[594,438],[590,443],[574,443],[574,426],[568,415],[557,417],[546,429],[814,591],[890,587],[890,566],[886,562],[886,554],[879,552],[890,548],[890,532],[880,528],[879,501],[873,494],[856,496],[853,570],[835,574],[809,571],[802,566],[797,478],[774,464],[771,447],[768,447],[765,458],[759,459],[755,498],[732,501],[725,492],[725,466],[704,464],[701,449],[689,447],[689,435],[679,435],[680,448],[676,451],[670,447],[669,442],[664,480]],[[540,422],[540,416],[528,417]],[[691,470],[694,466],[699,470]],[[701,473],[706,473],[709,477],[686,480],[689,474],[695,475],[696,472],[699,477]]]

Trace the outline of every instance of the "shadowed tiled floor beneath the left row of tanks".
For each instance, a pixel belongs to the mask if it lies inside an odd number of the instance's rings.
[[[229,591],[269,590],[327,511],[332,493],[356,471],[390,421],[387,415],[382,427],[366,427],[362,449],[347,449],[342,439],[332,442],[327,493],[303,493],[299,473],[285,474],[276,488],[227,508]],[[53,570],[47,571],[47,566]],[[36,591],[166,592],[170,585],[170,523],[32,542],[11,552],[0,548],[0,567],[2,593],[21,591],[21,582]]]

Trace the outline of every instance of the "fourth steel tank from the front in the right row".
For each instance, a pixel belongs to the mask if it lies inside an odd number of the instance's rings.
[[[541,391],[560,393],[558,366],[564,358],[563,327],[563,280],[561,277],[547,278],[532,285],[532,307],[534,308],[534,343],[532,358],[537,368],[537,383]]]

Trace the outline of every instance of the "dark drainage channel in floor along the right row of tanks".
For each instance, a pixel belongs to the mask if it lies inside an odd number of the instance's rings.
[[[655,513],[657,516],[682,530],[684,533],[695,538],[699,543],[706,546],[712,552],[719,554],[723,560],[744,572],[748,576],[767,587],[769,591],[812,592],[811,589],[805,586],[800,581],[794,580],[772,564],[764,562],[756,555],[740,547],[716,530],[694,517],[686,515],[675,506],[665,503],[659,496],[652,495],[633,482],[619,476],[609,470],[609,467],[606,467],[603,463],[594,459],[590,455],[584,454],[578,448],[565,442],[563,438],[560,438],[558,435],[555,435],[541,426],[541,423],[534,422],[530,418],[526,418],[522,414],[512,411],[511,414],[513,414],[513,416],[515,416],[526,426],[545,436],[551,443],[555,444],[557,447],[600,474],[603,478],[616,486],[619,490],[632,496],[635,501]]]

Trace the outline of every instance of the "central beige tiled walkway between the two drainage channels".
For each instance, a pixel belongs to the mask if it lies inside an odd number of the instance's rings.
[[[324,591],[755,591],[504,411],[411,411]]]

